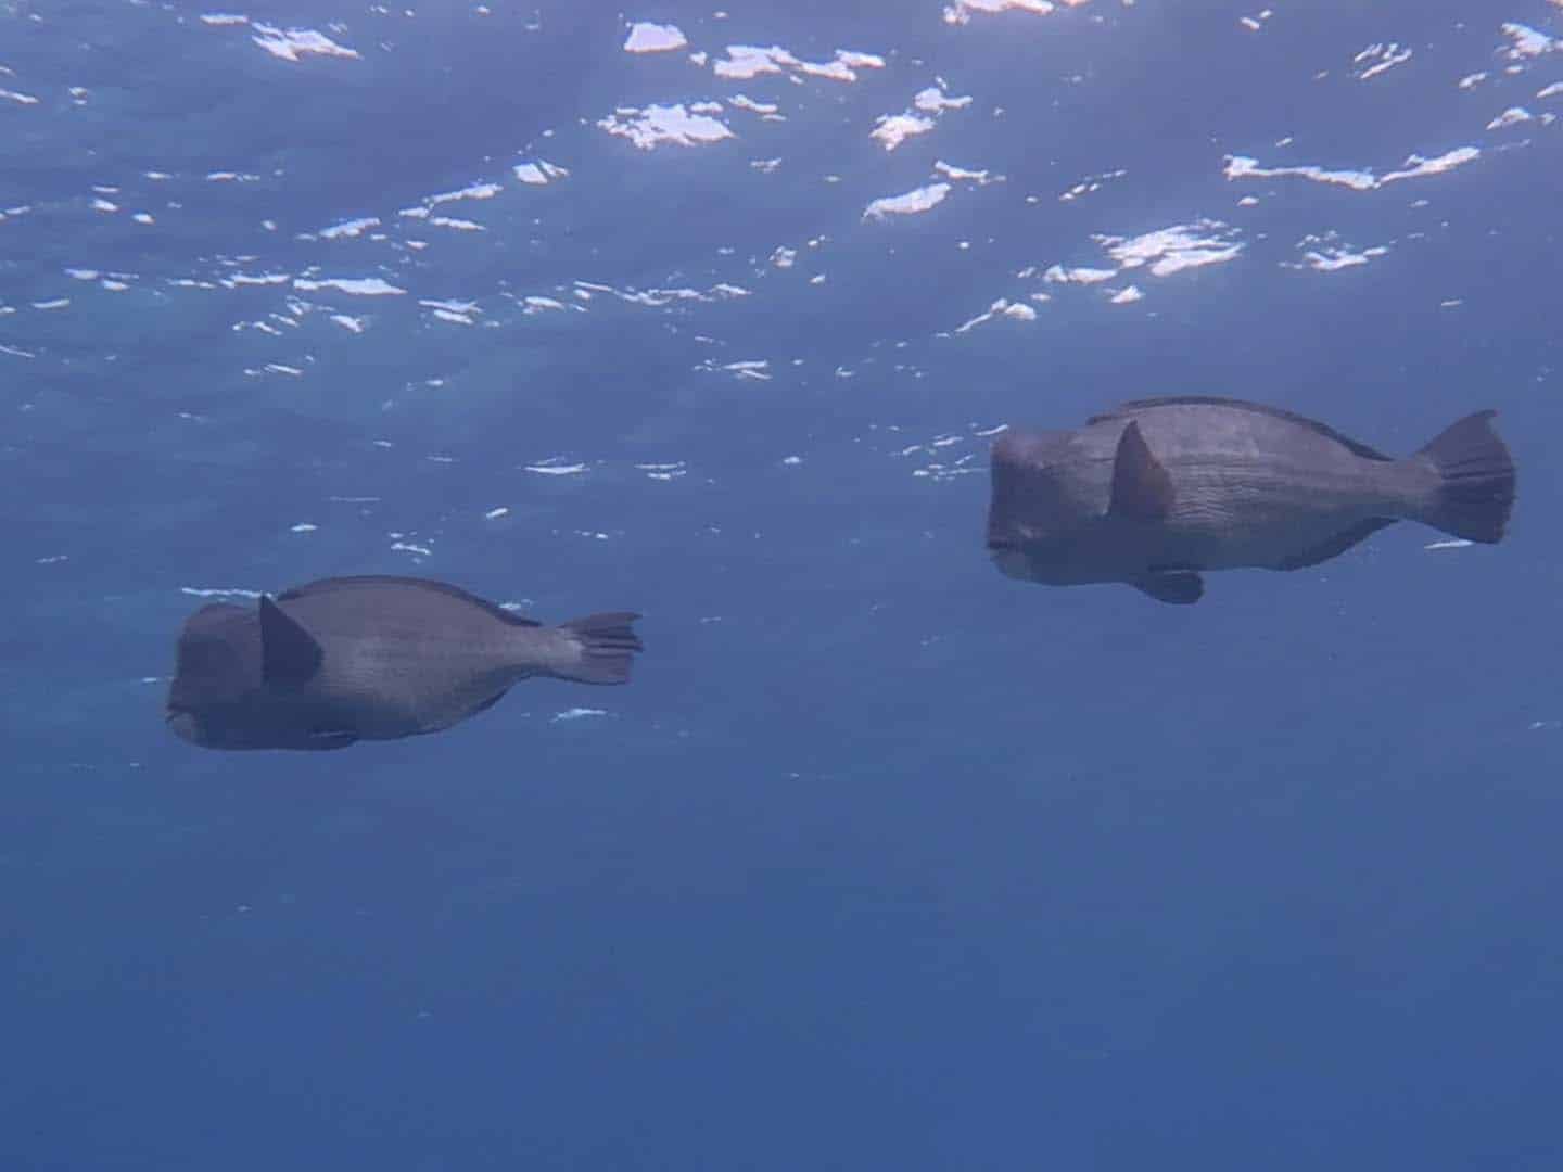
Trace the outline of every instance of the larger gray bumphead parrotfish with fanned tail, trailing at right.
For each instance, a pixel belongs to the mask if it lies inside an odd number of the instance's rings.
[[[1075,431],[1011,431],[993,452],[989,552],[1027,581],[1121,581],[1194,602],[1199,570],[1313,566],[1399,519],[1497,541],[1515,473],[1488,414],[1407,459],[1218,398],[1139,400]]]

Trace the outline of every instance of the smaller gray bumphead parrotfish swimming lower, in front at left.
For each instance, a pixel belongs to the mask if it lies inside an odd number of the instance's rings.
[[[214,749],[338,749],[449,728],[535,675],[624,683],[630,614],[542,627],[419,578],[328,578],[186,622],[170,727]]]

